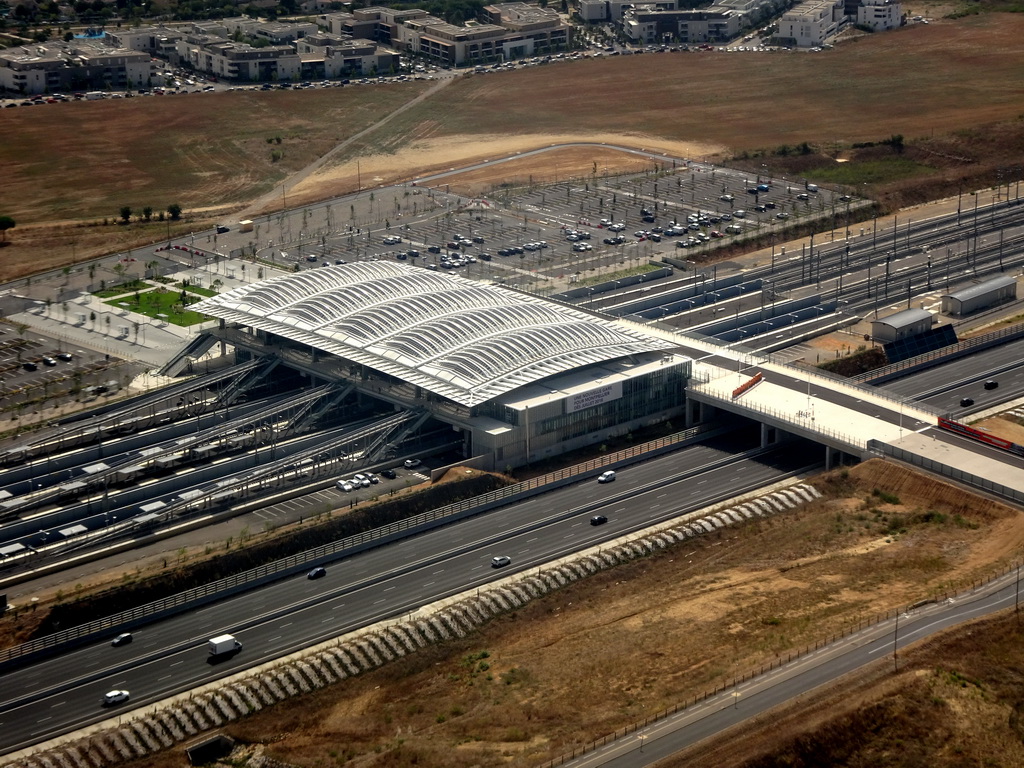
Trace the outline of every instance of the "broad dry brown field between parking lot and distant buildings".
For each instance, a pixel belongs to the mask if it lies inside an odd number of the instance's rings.
[[[289,190],[290,204],[514,155],[559,141],[724,159],[809,141],[839,147],[894,133],[956,135],[1024,114],[1024,17],[990,14],[870,35],[822,53],[662,53],[460,78],[353,142]],[[52,104],[0,113],[0,279],[167,237],[166,224],[89,226],[181,205],[206,226],[241,209],[427,83]],[[282,138],[282,143],[267,139]],[[283,157],[273,162],[271,153]],[[615,172],[610,152],[498,167],[482,185]],[[294,194],[293,194],[294,193]],[[285,199],[283,197],[283,203]]]

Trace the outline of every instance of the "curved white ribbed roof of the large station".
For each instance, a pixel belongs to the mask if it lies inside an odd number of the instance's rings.
[[[474,406],[671,342],[570,307],[385,261],[308,269],[193,307]]]

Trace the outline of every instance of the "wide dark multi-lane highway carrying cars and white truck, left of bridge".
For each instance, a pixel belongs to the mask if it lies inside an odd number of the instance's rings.
[[[99,703],[108,690],[129,690],[131,707],[159,700],[761,487],[818,456],[799,442],[758,457],[735,455],[737,450],[734,439],[694,446],[625,469],[614,483],[591,480],[347,558],[318,581],[299,575],[141,628],[131,645],[103,642],[11,671],[0,701],[0,750],[109,717]],[[590,515],[598,510],[608,523],[591,526]],[[512,565],[493,570],[495,555],[508,555]],[[237,635],[245,649],[211,666],[205,641],[222,632]]]

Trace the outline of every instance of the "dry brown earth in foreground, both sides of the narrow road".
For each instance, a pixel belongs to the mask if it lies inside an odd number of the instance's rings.
[[[464,640],[223,730],[299,766],[538,765],[860,620],[982,579],[1019,556],[1024,543],[1019,511],[881,460],[813,482],[825,494],[818,503],[600,573]],[[932,707],[948,732],[940,743],[915,743],[914,755],[945,755],[939,765],[956,765],[950,756],[957,754],[978,759],[959,765],[1021,764],[1005,715],[1008,697],[1021,690],[1020,673],[997,691],[991,673],[972,677],[972,658],[1005,652],[979,639],[954,633],[948,651],[931,643],[926,662],[905,655],[897,677],[876,670],[673,765],[788,755],[809,739],[835,741],[833,731],[847,740],[860,733],[855,745],[871,754],[862,743],[870,732],[860,727],[865,713],[891,721],[883,734],[891,742],[897,724],[922,721],[916,710],[913,718],[892,717],[920,702],[922,690],[932,697],[926,705],[942,699]],[[961,688],[950,670],[983,682]],[[717,749],[723,757],[708,762]],[[899,753],[864,762],[851,750],[859,762],[786,764],[919,764],[900,762]],[[173,750],[133,765],[185,764]]]

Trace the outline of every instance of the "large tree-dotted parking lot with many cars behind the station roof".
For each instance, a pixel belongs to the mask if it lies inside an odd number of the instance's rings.
[[[545,293],[662,256],[708,256],[755,233],[781,241],[794,224],[860,202],[803,179],[664,158],[647,173],[595,174],[480,199],[438,181],[265,217],[231,255],[255,253],[292,270],[393,259]]]

